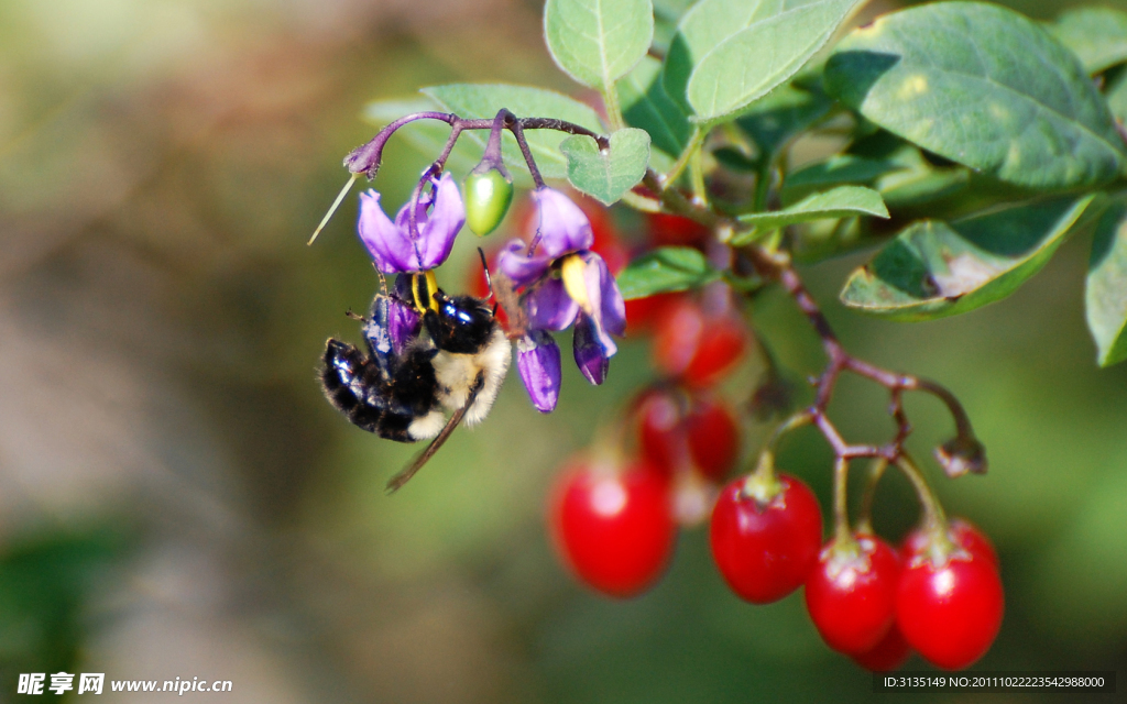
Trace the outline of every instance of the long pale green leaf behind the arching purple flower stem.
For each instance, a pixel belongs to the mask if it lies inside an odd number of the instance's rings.
[[[603,131],[595,110],[578,100],[543,88],[505,83],[451,83],[424,88],[421,92],[437,103],[441,108],[456,113],[461,117],[491,118],[502,108],[508,108],[517,117],[557,117],[582,125],[592,132],[601,133]],[[553,130],[525,132],[529,149],[544,178],[565,178],[567,175],[567,159],[559,150],[559,143],[564,136],[562,133]],[[481,149],[485,149],[489,133],[482,131],[469,132],[463,139],[477,142]],[[502,146],[505,166],[516,171],[527,170],[524,157],[516,146],[516,140],[508,132],[505,133]]]

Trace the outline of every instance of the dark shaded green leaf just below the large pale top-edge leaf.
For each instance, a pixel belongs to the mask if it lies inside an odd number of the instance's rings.
[[[795,137],[829,114],[833,100],[824,93],[780,86],[752,104],[736,125],[762,151],[774,158]]]

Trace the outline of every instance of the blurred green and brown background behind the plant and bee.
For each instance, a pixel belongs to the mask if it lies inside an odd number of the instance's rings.
[[[540,11],[0,1],[0,702],[19,698],[17,674],[61,669],[230,679],[233,693],[185,695],[224,702],[877,696],[822,644],[800,595],[752,607],[729,594],[700,528],[632,601],[558,567],[548,488],[651,378],[645,338],[622,346],[604,387],[566,371],[551,416],[512,375],[488,421],[393,498],[383,483],[415,448],[357,430],[321,395],[325,339],[355,340],[343,313],[375,289],[355,196],[304,244],[345,180],[340,158],[374,133],[363,105],[449,81],[570,91]],[[387,203],[427,160],[392,142],[375,182]],[[471,239],[440,273],[447,287],[472,268]],[[1000,304],[924,324],[844,312],[857,257],[805,270],[854,353],[949,385],[988,447],[986,476],[926,467],[1001,552],[1005,622],[977,669],[1127,669],[1127,366],[1095,367],[1086,244]],[[790,368],[817,371],[789,301],[769,295],[756,317]],[[928,455],[950,421],[929,400],[909,411]],[[859,439],[889,429],[860,384],[833,412]],[[762,436],[751,428],[748,452]],[[820,440],[793,438],[781,464],[828,506]],[[878,529],[897,537],[915,511],[906,482],[886,480]]]

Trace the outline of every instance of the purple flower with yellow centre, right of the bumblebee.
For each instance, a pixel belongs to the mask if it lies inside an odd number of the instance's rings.
[[[611,335],[621,337],[627,319],[614,277],[603,258],[591,251],[595,238],[579,206],[551,188],[540,188],[532,198],[536,203],[536,234],[532,243],[511,241],[502,249],[497,266],[524,289],[522,301],[531,332],[517,346],[517,366],[533,404],[543,411],[538,399],[550,398],[554,407],[560,362],[559,348],[542,331],[564,330],[576,323],[573,340],[576,364],[591,383],[601,384],[606,378],[610,358],[618,351]],[[530,358],[529,375],[521,362],[521,345]],[[531,373],[533,357],[535,375]]]

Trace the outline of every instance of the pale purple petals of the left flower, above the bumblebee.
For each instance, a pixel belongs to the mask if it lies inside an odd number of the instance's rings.
[[[446,260],[454,237],[465,222],[465,206],[450,173],[431,179],[433,193],[419,196],[415,211],[418,237],[410,232],[410,203],[399,210],[396,222],[380,207],[380,194],[360,194],[360,239],[375,267],[384,274],[414,274],[433,269]],[[433,207],[432,207],[433,206]]]

